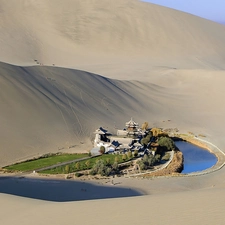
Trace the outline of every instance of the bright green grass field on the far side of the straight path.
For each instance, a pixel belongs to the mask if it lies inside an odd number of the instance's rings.
[[[46,166],[55,165],[57,163],[85,158],[87,156],[88,154],[47,154],[38,159],[32,159],[11,166],[6,166],[4,169],[10,171],[32,171]]]

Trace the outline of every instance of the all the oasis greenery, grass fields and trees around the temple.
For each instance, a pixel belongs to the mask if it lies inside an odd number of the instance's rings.
[[[144,127],[147,128],[148,124],[145,123]],[[155,136],[160,135],[160,136]],[[154,138],[153,138],[154,136]],[[155,139],[155,145],[149,146],[150,140]],[[169,160],[170,154],[167,151],[175,150],[176,146],[171,138],[165,136],[158,128],[154,128],[153,131],[149,131],[146,137],[141,140],[141,144],[145,147],[152,147],[156,155],[145,155],[139,162],[141,170],[147,170],[152,168],[155,164],[160,163],[161,160]],[[156,150],[155,150],[156,149]],[[74,163],[66,164],[64,166],[58,166],[53,169],[42,171],[44,174],[68,174],[75,173],[76,176],[82,176],[84,170],[90,170],[90,174],[100,174],[102,176],[109,176],[111,174],[118,173],[118,164],[126,161],[131,161],[134,157],[138,157],[138,151],[133,153],[128,151],[126,154],[104,154],[105,147],[100,147],[100,156],[88,157],[89,154],[46,154],[40,158],[27,160],[26,162],[7,166],[4,169],[9,171],[33,171],[40,168],[45,168],[51,165],[57,165],[63,162],[69,162],[77,160]]]

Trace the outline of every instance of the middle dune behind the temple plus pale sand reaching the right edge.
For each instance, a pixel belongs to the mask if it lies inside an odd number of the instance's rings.
[[[87,152],[95,129],[104,126],[115,133],[131,117],[150,126],[220,133],[224,75],[179,72],[160,77],[163,87],[72,69],[0,63],[0,165],[46,152]],[[212,86],[216,91],[209,91]]]

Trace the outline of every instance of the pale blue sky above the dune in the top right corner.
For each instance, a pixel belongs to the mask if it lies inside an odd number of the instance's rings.
[[[225,22],[225,0],[143,0],[188,12],[216,22]]]

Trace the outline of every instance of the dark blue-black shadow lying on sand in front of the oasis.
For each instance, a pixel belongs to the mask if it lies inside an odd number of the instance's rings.
[[[0,193],[21,197],[68,202],[93,199],[140,196],[130,188],[91,184],[82,181],[0,177]]]

